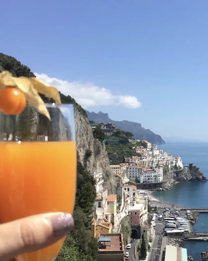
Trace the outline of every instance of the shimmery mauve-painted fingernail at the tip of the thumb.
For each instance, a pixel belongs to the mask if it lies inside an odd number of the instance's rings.
[[[55,236],[65,235],[74,227],[74,219],[69,213],[61,213],[50,219],[53,226],[53,234]]]

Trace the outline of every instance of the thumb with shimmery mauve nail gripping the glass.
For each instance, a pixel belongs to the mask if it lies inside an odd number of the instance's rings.
[[[0,225],[0,260],[44,248],[73,229],[71,214],[52,212]]]

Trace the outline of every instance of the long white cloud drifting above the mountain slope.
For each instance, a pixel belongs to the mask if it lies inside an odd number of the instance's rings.
[[[50,78],[47,74],[35,73],[44,82],[56,87],[61,93],[70,95],[85,109],[90,106],[117,105],[127,108],[139,108],[141,102],[131,95],[114,95],[110,90],[98,87],[94,83],[67,82],[57,78]]]

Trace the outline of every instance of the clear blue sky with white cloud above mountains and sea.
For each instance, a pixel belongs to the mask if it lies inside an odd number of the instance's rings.
[[[207,10],[203,0],[4,1],[0,51],[88,111],[208,140]]]

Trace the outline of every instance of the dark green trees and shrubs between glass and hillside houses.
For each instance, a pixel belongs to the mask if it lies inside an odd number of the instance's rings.
[[[96,196],[94,189],[95,180],[92,175],[77,162],[77,189],[74,209],[75,227],[68,234],[61,251],[58,261],[68,261],[74,257],[76,261],[97,260],[97,249],[99,244],[92,237],[90,221],[93,217],[93,205]],[[77,254],[77,251],[79,254]]]

